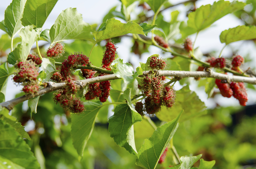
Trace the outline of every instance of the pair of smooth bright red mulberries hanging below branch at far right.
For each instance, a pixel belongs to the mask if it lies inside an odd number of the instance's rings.
[[[222,83],[222,80],[216,79],[215,83],[220,89],[220,93],[223,97],[230,98],[231,96],[234,96],[234,98],[239,101],[240,105],[246,105],[248,98],[243,82]]]

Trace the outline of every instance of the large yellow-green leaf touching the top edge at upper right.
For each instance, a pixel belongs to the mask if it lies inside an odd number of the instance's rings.
[[[196,11],[189,13],[187,25],[199,32],[223,16],[244,9],[244,6],[243,2],[233,1],[230,3],[224,0],[214,2],[213,5],[201,6]]]

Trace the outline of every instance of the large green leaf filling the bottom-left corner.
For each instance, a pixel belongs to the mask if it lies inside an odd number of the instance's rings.
[[[20,168],[39,169],[29,145],[6,122],[0,119],[0,157],[6,158]]]

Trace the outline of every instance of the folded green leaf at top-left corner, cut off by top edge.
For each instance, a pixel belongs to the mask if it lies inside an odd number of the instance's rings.
[[[5,10],[4,24],[7,33],[13,37],[22,28],[21,17],[26,0],[13,0]]]

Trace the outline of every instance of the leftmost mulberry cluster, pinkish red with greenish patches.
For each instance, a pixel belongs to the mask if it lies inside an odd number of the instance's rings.
[[[34,95],[39,90],[39,85],[37,81],[38,67],[30,59],[25,62],[19,62],[16,64],[17,72],[14,73],[13,81],[23,85],[22,91],[26,94]]]

